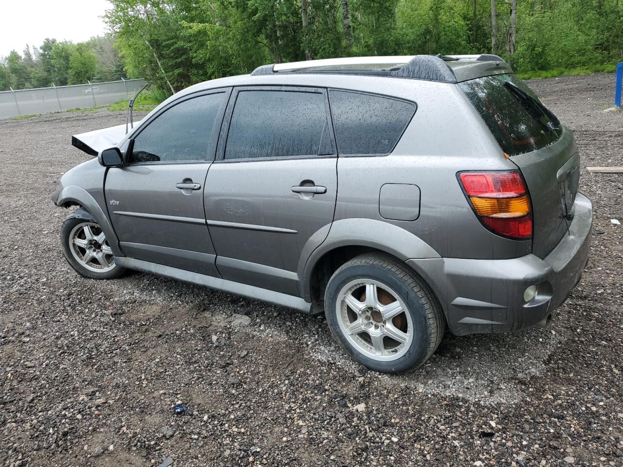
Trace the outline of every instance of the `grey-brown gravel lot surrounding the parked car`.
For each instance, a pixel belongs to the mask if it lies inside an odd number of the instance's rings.
[[[623,165],[613,75],[529,84],[584,167]],[[387,376],[348,360],[322,317],[77,276],[50,195],[88,158],[71,134],[124,119],[0,121],[0,465],[623,465],[622,174],[583,170],[596,235],[551,329],[447,335],[424,368]]]

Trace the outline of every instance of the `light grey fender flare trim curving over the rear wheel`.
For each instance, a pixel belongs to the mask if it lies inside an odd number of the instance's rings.
[[[318,235],[318,238],[321,237],[323,235]],[[313,235],[308,243],[313,242],[315,238],[316,235]],[[298,262],[300,293],[306,301],[312,300],[311,278],[318,260],[331,250],[352,246],[375,248],[402,261],[412,258],[440,258],[439,253],[428,243],[398,225],[374,219],[336,220],[330,225],[329,234],[324,242],[320,245],[305,245],[303,248],[303,253],[310,252],[308,255],[301,255]]]

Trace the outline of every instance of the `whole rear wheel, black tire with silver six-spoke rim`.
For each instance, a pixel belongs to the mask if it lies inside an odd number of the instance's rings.
[[[426,283],[383,253],[361,255],[335,271],[326,286],[325,314],[346,353],[382,373],[421,366],[445,329],[444,313]]]

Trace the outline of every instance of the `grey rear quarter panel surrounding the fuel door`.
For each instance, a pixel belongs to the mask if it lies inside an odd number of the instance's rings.
[[[395,78],[389,78],[395,80]],[[388,156],[341,156],[335,221],[383,220],[411,232],[442,257],[506,259],[530,253],[530,241],[508,240],[480,224],[457,181],[457,172],[516,169],[457,85],[396,80],[388,94],[417,103],[417,111]],[[385,93],[376,87],[376,93]],[[387,183],[415,184],[421,193],[416,220],[379,214]],[[330,236],[329,236],[330,238]]]

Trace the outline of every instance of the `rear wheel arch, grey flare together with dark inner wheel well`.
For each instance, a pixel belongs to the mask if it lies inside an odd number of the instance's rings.
[[[434,248],[398,225],[374,219],[333,222],[323,243],[305,263],[299,263],[300,293],[313,302],[322,299],[328,278],[348,260],[363,253],[386,253],[401,262],[412,258],[440,258]],[[418,273],[418,271],[416,271]]]

